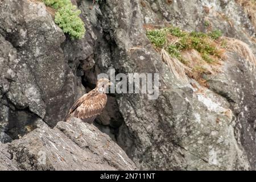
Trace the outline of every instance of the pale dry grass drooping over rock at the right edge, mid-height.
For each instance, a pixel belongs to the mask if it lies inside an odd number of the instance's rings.
[[[229,51],[238,53],[239,56],[243,57],[247,61],[250,61],[250,63],[253,64],[255,67],[255,64],[256,64],[255,55],[246,43],[242,42],[241,40],[237,40],[233,38],[224,38],[224,39],[226,40],[226,43],[227,43],[226,48]]]

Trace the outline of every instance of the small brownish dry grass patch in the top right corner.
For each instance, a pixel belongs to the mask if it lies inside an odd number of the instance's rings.
[[[249,19],[253,23],[254,29],[256,31],[256,1],[255,0],[236,0],[236,2],[239,5],[243,6]]]

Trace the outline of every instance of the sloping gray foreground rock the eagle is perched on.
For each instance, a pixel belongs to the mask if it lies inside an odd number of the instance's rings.
[[[76,118],[59,122],[54,129],[35,129],[8,146],[1,144],[0,149],[0,170],[136,169],[108,135]]]

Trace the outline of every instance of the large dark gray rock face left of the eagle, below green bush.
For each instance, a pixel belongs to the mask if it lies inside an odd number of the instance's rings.
[[[74,52],[43,3],[1,1],[0,16],[0,126],[15,139],[38,119],[55,126],[86,93],[68,63],[77,68],[92,50],[84,41]]]

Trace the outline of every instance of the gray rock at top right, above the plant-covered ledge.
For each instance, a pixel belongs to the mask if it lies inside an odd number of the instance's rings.
[[[146,2],[152,2],[146,0]],[[240,39],[256,48],[253,39],[255,27],[245,10],[236,1],[157,1],[155,6],[141,6],[144,23],[162,25],[171,24],[189,31],[206,31],[220,29],[225,36]],[[205,27],[205,21],[212,27]]]

